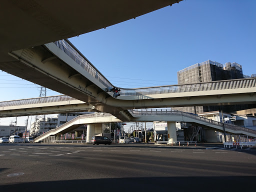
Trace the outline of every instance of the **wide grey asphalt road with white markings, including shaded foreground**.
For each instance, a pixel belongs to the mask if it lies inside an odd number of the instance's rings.
[[[245,191],[255,155],[223,145],[0,144],[0,191]]]

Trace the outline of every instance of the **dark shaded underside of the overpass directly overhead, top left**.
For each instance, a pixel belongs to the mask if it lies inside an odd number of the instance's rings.
[[[181,0],[1,0],[0,62],[8,52],[104,28]]]

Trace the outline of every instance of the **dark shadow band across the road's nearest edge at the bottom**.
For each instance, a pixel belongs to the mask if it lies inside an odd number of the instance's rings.
[[[244,191],[256,176],[136,177],[24,182],[1,191]]]

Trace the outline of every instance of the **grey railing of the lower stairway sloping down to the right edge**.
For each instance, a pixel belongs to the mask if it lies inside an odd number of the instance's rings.
[[[244,131],[244,132],[247,132],[247,133],[253,133],[253,134],[256,134],[256,130],[253,130],[253,129],[249,129],[249,128],[245,128],[245,127],[242,127],[242,126],[237,126],[237,125],[234,125],[234,124],[227,124],[227,123],[222,123],[222,122],[218,122],[218,121],[215,121],[215,120],[211,120],[211,119],[208,119],[208,118],[204,118],[204,117],[201,117],[201,116],[198,116],[196,114],[191,114],[191,113],[187,113],[187,112],[182,112],[182,111],[177,111],[177,110],[135,110],[135,109],[129,109],[128,110],[131,114],[134,114],[134,115],[176,115],[176,116],[186,116],[186,117],[189,117],[189,118],[192,118],[192,119],[196,119],[196,120],[199,120],[199,121],[203,121],[204,122],[204,125],[207,125],[207,124],[214,124],[214,125],[217,125],[217,126],[220,126],[220,127],[223,127],[225,126],[224,128],[228,128],[228,129],[231,129],[231,130],[240,130],[240,131]]]

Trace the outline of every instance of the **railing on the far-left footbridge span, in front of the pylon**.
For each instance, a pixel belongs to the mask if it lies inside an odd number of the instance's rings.
[[[69,100],[77,100],[77,99],[67,95],[44,96],[44,97],[37,97],[37,98],[2,101],[0,102],[0,107],[26,105],[26,104],[39,104],[39,103],[47,103],[47,102],[60,102],[60,101],[69,101]]]

